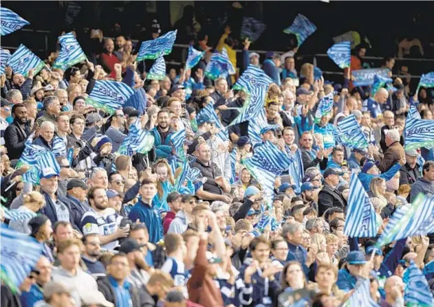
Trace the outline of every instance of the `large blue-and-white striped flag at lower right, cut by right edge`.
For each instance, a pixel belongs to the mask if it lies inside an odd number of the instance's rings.
[[[427,234],[430,225],[433,225],[433,209],[434,198],[426,198],[422,194],[411,205],[398,207],[376,245],[382,247],[402,238]]]

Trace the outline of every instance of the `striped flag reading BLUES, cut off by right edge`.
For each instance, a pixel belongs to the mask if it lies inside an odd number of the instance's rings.
[[[411,118],[406,121],[404,128],[404,147],[406,150],[420,147],[434,147],[434,120],[417,120]]]

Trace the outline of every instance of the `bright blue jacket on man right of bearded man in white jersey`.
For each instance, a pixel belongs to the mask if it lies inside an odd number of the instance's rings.
[[[128,218],[130,220],[140,220],[148,227],[149,242],[157,243],[163,238],[163,223],[158,212],[158,208],[154,205],[144,203],[142,199],[134,205],[129,212]]]

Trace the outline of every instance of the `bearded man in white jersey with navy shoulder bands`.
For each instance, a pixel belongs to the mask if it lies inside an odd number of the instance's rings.
[[[114,249],[118,246],[118,238],[128,236],[129,225],[119,227],[122,216],[118,216],[115,209],[109,208],[107,194],[102,187],[91,187],[87,198],[91,208],[81,219],[83,234],[99,234],[102,248]]]

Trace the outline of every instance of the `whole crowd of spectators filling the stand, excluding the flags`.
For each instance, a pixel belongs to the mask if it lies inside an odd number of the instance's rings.
[[[151,30],[153,39],[162,32],[158,23]],[[410,102],[422,119],[433,119],[432,89],[415,94],[395,78],[395,91],[381,88],[370,97],[369,89],[354,87],[350,69],[341,84],[331,84],[314,78],[309,62],[297,71],[296,50],[268,52],[261,63],[248,40],[237,63],[230,32],[226,28],[217,46],[199,34],[195,47],[206,51],[204,58],[193,70],[170,69],[160,81],[145,79],[150,65],[135,61],[131,40],[104,39],[100,30],[91,39],[104,51],[66,71],[44,68],[35,76],[30,70],[23,78],[6,67],[0,80],[2,204],[33,217],[3,222],[44,249],[18,292],[1,285],[1,306],[291,306],[291,297],[304,297],[307,306],[340,306],[360,279],[369,279],[380,306],[405,306],[404,271],[411,261],[420,269],[433,261],[433,237],[404,238],[384,249],[373,248],[376,238],[347,238],[349,177],[358,172],[382,218],[379,234],[395,209],[420,193],[433,196],[433,149],[404,150],[402,136]],[[218,126],[239,115],[246,93],[231,89],[236,76],[204,76],[209,47],[226,47],[240,73],[256,65],[274,80],[264,102],[270,128],[261,130],[261,139],[288,157],[299,152],[304,177],[276,177],[271,209],[264,209],[255,174],[241,164],[261,144],[248,136],[252,121],[230,126],[228,142],[217,137]],[[362,68],[366,50],[356,48],[351,69]],[[55,58],[56,52],[47,67]],[[393,65],[393,58],[384,60],[384,67]],[[108,115],[87,104],[96,80],[120,82],[127,74],[135,89],[146,91],[144,114],[129,106]],[[319,100],[329,93],[332,115],[314,122]],[[195,121],[208,104],[220,123]],[[338,119],[351,114],[369,139],[366,150],[336,143]],[[153,148],[119,155],[136,121],[152,133]],[[170,136],[184,128],[184,159],[200,176],[176,190],[180,168],[174,171],[171,161],[179,152]],[[52,150],[54,137],[63,139],[72,159],[56,157],[60,174],[45,168],[39,185],[23,182],[29,168],[16,166],[26,141]],[[276,223],[262,229],[264,216]],[[285,298],[279,303],[279,297]]]

